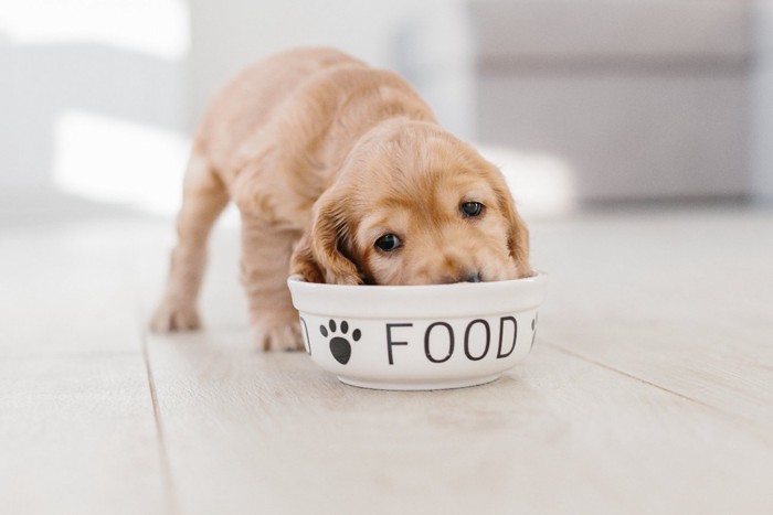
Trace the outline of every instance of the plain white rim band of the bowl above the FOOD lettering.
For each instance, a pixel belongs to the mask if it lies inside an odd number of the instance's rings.
[[[548,275],[449,285],[327,285],[287,278],[293,304],[301,313],[363,319],[489,316],[537,309]]]

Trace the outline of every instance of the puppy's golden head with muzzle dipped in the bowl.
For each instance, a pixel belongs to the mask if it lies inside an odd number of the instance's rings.
[[[385,124],[315,204],[292,271],[338,285],[430,285],[531,275],[529,233],[501,172],[425,122]]]

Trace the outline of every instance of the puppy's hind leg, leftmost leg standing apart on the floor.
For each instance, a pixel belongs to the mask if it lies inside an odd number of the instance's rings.
[[[166,292],[150,321],[153,331],[200,326],[197,298],[207,267],[207,238],[227,202],[225,186],[212,167],[203,157],[193,154],[186,170],[182,207],[177,218],[178,240]]]

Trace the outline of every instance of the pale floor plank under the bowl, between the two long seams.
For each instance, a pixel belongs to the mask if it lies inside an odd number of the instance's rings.
[[[765,513],[770,439],[538,345],[488,386],[338,384],[243,333],[153,337],[184,513]]]

